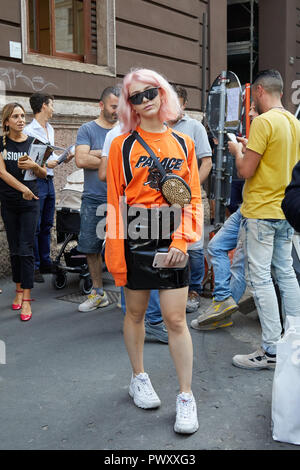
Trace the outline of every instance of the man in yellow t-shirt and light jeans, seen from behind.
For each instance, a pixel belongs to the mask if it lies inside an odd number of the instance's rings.
[[[262,328],[261,347],[252,354],[233,357],[233,364],[244,369],[273,369],[276,365],[282,325],[271,266],[285,314],[300,316],[300,288],[291,256],[293,229],[281,209],[293,167],[300,160],[300,123],[282,106],[282,92],[278,71],[258,74],[252,99],[260,115],[251,125],[245,153],[238,145],[234,152],[238,173],[246,178],[241,207],[245,274]]]

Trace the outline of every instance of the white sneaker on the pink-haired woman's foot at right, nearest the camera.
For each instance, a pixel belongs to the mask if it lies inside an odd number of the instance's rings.
[[[176,421],[174,431],[180,434],[193,434],[199,428],[197,405],[192,393],[180,393],[176,401]]]

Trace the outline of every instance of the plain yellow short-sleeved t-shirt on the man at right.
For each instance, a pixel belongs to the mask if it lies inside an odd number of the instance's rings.
[[[247,148],[261,155],[255,174],[245,182],[241,213],[249,219],[285,219],[285,188],[300,160],[300,122],[288,111],[272,109],[257,116]]]

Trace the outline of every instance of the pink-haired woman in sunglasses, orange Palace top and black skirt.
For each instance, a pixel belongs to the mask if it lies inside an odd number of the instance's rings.
[[[201,204],[201,193],[194,144],[188,136],[165,124],[179,113],[177,95],[160,74],[138,69],[125,76],[118,110],[123,134],[112,141],[108,158],[105,259],[116,285],[124,286],[124,340],[132,366],[129,395],[141,408],[157,408],[161,404],[143,364],[144,316],[151,289],[159,289],[180,387],[174,430],[191,434],[198,429],[198,419],[191,391],[193,347],[185,314],[189,268],[188,263],[184,267],[178,265],[186,259],[187,243],[199,239],[201,234],[184,226],[181,209],[179,218],[178,210],[172,216],[172,208],[160,190],[154,160],[131,132],[138,132],[168,172],[189,184],[189,207],[195,208]],[[124,197],[122,211],[120,199]],[[194,210],[191,214],[195,218]],[[165,253],[162,269],[153,266],[157,251]]]

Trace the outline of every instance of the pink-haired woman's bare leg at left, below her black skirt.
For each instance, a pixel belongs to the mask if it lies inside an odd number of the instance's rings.
[[[144,317],[150,291],[124,289],[126,315],[124,318],[124,341],[134,375],[144,372]]]

